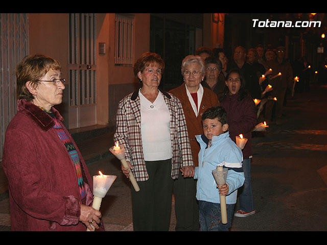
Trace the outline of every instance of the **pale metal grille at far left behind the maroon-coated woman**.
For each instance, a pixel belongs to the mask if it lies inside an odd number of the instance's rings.
[[[16,114],[15,66],[29,53],[28,14],[0,14],[0,160],[5,133]]]

